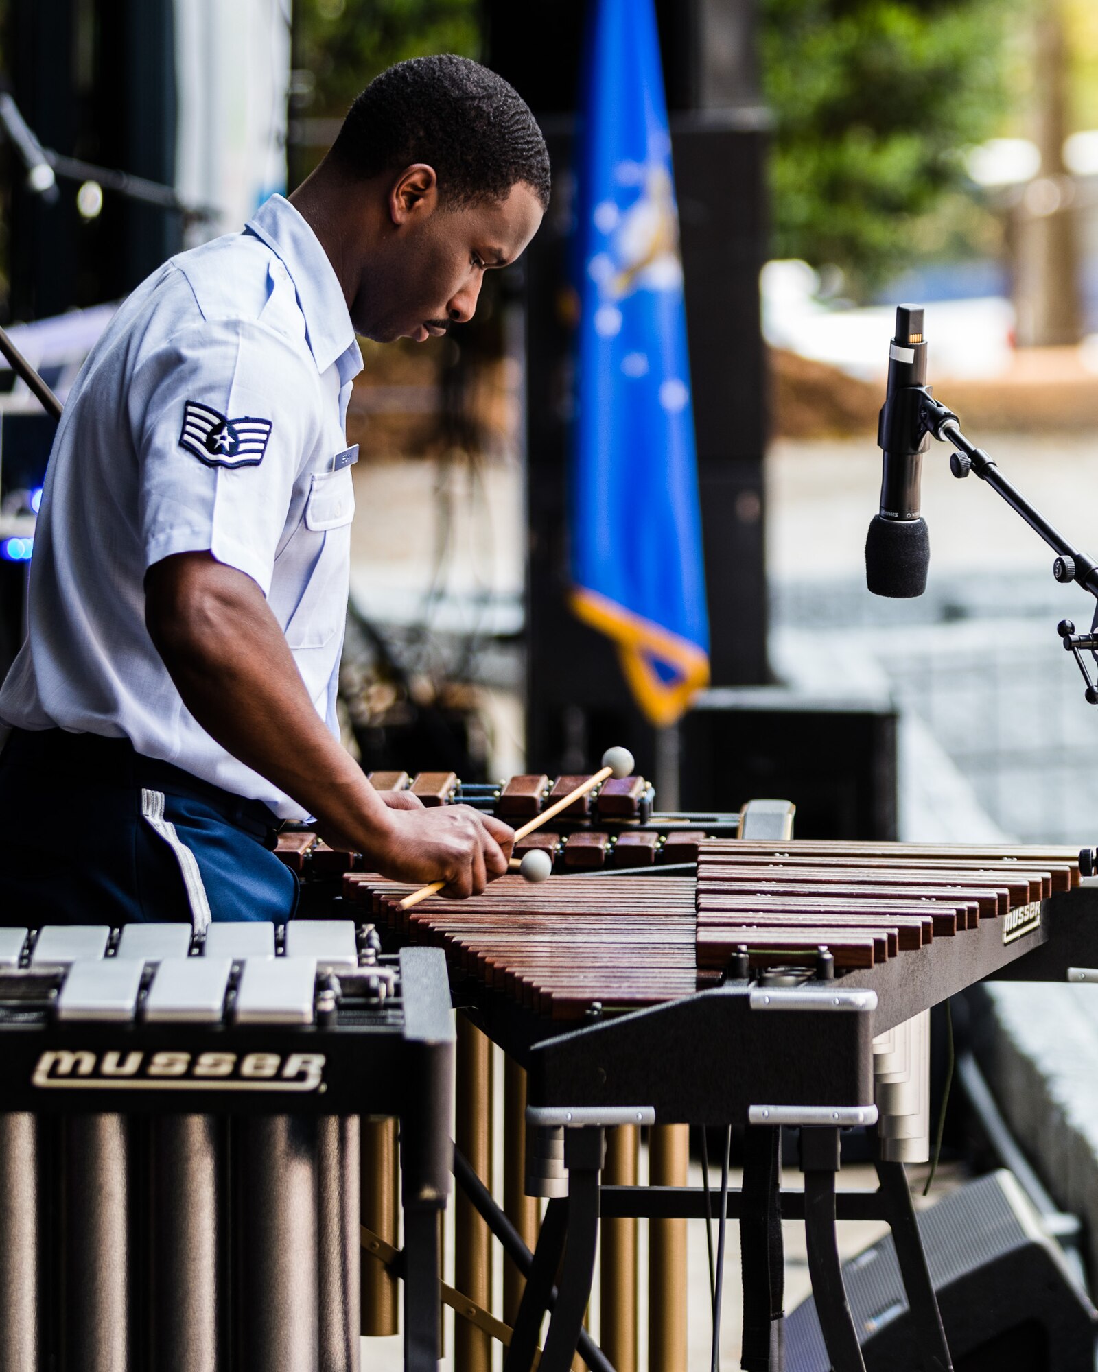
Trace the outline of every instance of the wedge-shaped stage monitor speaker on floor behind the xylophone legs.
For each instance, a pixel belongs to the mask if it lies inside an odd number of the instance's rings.
[[[918,1216],[954,1372],[1094,1372],[1098,1313],[1012,1172]],[[921,1368],[891,1235],[843,1266],[866,1372]],[[785,1321],[789,1372],[828,1372],[810,1298]]]

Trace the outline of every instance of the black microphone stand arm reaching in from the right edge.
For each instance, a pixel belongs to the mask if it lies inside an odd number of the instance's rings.
[[[994,458],[965,438],[961,432],[961,421],[953,410],[936,401],[928,388],[913,387],[913,390],[921,391],[917,412],[920,440],[925,434],[931,434],[940,443],[953,443],[955,449],[950,457],[953,475],[962,479],[969,472],[974,472],[981,482],[987,482],[1014,513],[1020,514],[1029,528],[1053,549],[1055,553],[1053,576],[1062,584],[1076,582],[1098,601],[1098,563],[1064,538],[1060,530],[1050,524],[1040,510],[1031,505],[1021,491],[1003,476]],[[1083,674],[1087,704],[1098,705],[1098,604],[1094,608],[1088,634],[1076,634],[1075,624],[1069,619],[1062,619],[1057,624],[1057,632]],[[1091,679],[1083,653],[1090,653],[1095,661],[1095,679]]]

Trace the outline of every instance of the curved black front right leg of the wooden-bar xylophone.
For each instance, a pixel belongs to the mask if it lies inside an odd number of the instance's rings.
[[[834,1177],[839,1172],[839,1131],[802,1129],[804,1173],[804,1238],[815,1310],[833,1372],[866,1372],[854,1320],[843,1287],[834,1233]]]

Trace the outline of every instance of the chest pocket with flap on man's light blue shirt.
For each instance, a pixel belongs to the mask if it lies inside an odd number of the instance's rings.
[[[292,649],[324,648],[347,616],[354,483],[350,468],[314,472],[294,549],[301,597],[285,626]],[[287,552],[291,552],[288,547]]]

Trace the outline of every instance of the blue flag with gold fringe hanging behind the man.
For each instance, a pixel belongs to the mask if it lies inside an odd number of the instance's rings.
[[[576,184],[572,609],[653,724],[710,679],[678,209],[653,0],[596,0]]]

